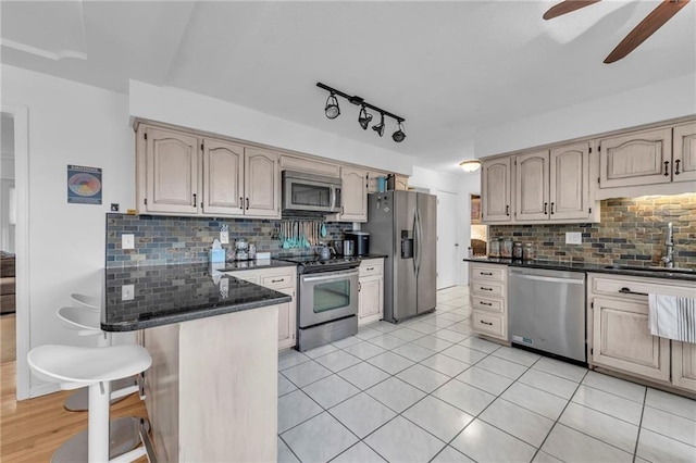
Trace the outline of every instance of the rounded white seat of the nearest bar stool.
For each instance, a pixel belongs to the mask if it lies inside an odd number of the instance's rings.
[[[133,376],[152,364],[147,349],[136,345],[102,348],[45,345],[32,349],[27,361],[37,376],[61,383],[61,389]]]

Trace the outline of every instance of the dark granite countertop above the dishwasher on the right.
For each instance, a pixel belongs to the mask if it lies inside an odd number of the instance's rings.
[[[547,268],[571,272],[608,273],[613,275],[642,276],[648,278],[679,279],[696,281],[696,273],[680,273],[679,268],[673,272],[668,270],[650,271],[639,268],[622,268],[619,265],[588,264],[584,262],[557,262],[557,261],[517,261],[498,258],[467,258],[464,262],[481,262],[486,264],[501,264],[515,267]]]

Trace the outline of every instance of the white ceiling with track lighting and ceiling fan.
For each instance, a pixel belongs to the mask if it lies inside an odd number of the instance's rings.
[[[1,59],[120,92],[129,78],[187,89],[435,170],[473,157],[478,129],[696,72],[696,2],[609,65],[659,0],[542,20],[555,3],[3,0]],[[344,99],[327,120],[316,82],[405,117],[406,141],[390,118],[382,139],[363,132]]]

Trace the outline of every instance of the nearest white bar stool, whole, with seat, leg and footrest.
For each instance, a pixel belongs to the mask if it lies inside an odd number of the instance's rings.
[[[110,381],[148,370],[152,364],[152,358],[147,349],[136,345],[104,348],[46,345],[32,349],[27,355],[27,362],[37,377],[60,383],[63,390],[89,387],[87,459],[84,458],[84,453],[83,455],[73,454],[71,461],[87,460],[89,463],[110,461]],[[71,440],[63,446],[69,442]],[[146,454],[146,447],[142,446],[111,461],[130,462]],[[51,459],[51,461],[54,460]]]

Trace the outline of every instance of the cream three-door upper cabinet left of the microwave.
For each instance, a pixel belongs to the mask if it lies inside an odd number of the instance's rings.
[[[139,213],[281,216],[278,154],[148,124],[138,126]]]

